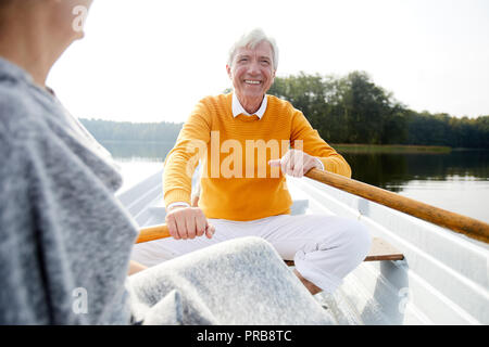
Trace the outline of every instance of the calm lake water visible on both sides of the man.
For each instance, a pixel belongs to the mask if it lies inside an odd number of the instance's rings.
[[[125,190],[162,168],[173,143],[103,142]],[[355,180],[489,222],[489,151],[341,152]]]

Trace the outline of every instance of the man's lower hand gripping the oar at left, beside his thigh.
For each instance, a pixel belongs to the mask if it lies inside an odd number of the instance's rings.
[[[170,234],[175,240],[196,239],[204,233],[211,239],[215,231],[199,207],[175,206],[166,214],[165,219]]]

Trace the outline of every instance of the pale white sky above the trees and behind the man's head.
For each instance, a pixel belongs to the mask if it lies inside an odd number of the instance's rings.
[[[277,76],[365,70],[412,110],[489,115],[488,0],[95,0],[48,83],[77,117],[185,121],[231,87],[228,49],[254,27]]]

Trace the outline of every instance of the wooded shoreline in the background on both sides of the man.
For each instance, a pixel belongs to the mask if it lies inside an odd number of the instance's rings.
[[[228,91],[228,90],[226,90]],[[329,143],[489,149],[489,116],[457,118],[410,110],[364,72],[276,77],[268,91],[302,111]],[[98,140],[174,142],[183,124],[80,119]]]

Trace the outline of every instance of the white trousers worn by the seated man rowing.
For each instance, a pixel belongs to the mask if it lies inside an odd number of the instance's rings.
[[[283,259],[293,259],[304,279],[333,293],[371,249],[368,230],[355,220],[337,216],[280,215],[251,221],[209,219],[209,222],[215,227],[212,239],[168,237],[136,244],[131,258],[154,266],[223,241],[259,236],[268,241]]]

